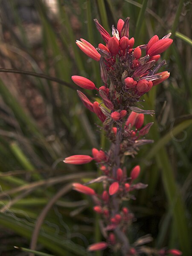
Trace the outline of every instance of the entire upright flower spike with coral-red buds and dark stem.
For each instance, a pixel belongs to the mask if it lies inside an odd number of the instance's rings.
[[[135,199],[130,193],[134,189],[144,189],[147,185],[135,183],[140,174],[140,166],[135,166],[127,172],[123,166],[126,155],[134,156],[141,145],[152,143],[146,140],[145,135],[153,123],[143,126],[144,114],[153,114],[137,107],[137,102],[144,93],[169,77],[167,71],[157,73],[160,67],[166,64],[163,60],[157,66],[160,53],[171,44],[171,33],[159,39],[154,35],[148,44],[134,48],[134,38],[129,37],[129,17],[125,22],[119,19],[117,28],[112,26],[112,36],[95,19],[96,28],[100,32],[105,44],[98,48],[81,38],[76,41],[78,47],[90,58],[100,63],[103,85],[96,85],[82,76],[72,76],[72,80],[79,87],[97,90],[102,103],[90,102],[87,96],[78,90],[78,95],[84,106],[95,113],[102,122],[102,129],[106,137],[111,140],[108,151],[92,149],[92,156],[73,155],[65,158],[65,163],[84,164],[95,160],[102,171],[102,176],[81,185],[74,183],[76,191],[90,195],[95,206],[94,211],[101,215],[101,232],[105,242],[89,246],[88,250],[104,250],[110,247],[113,251],[121,251],[121,255],[158,255],[168,253],[181,255],[179,250],[156,250],[144,247],[143,244],[151,241],[145,236],[134,244],[130,244],[127,230],[135,220],[134,214],[127,207],[122,207],[122,201]],[[143,52],[142,52],[143,51]],[[88,187],[91,183],[102,183],[103,192],[98,195],[95,190]]]

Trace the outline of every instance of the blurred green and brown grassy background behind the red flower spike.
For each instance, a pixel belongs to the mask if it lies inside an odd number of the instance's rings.
[[[149,246],[191,255],[192,2],[183,0],[0,1],[0,255],[28,255],[30,244],[55,256],[93,255],[86,247],[102,240],[92,202],[71,190],[74,181],[95,177],[97,167],[62,160],[93,147],[107,151],[109,142],[71,76],[102,86],[99,63],[80,51],[76,39],[97,47],[103,41],[93,18],[111,34],[126,17],[135,47],[153,35],[172,32],[174,39],[161,58],[169,79],[144,97],[144,108],[156,112],[145,118],[154,122],[148,134],[154,144],[126,160],[128,173],[140,164],[139,180],[149,184],[136,201],[125,202],[137,218],[128,236],[134,242],[150,233]]]

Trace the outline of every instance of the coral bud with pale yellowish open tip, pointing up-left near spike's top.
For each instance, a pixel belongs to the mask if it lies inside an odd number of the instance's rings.
[[[76,41],[77,46],[81,49],[81,51],[83,51],[87,56],[89,56],[90,58],[92,58],[95,61],[99,61],[101,55],[99,54],[99,52],[97,52],[97,50],[95,49],[95,47],[90,44],[89,42],[87,42],[84,39],[80,39],[81,41]]]

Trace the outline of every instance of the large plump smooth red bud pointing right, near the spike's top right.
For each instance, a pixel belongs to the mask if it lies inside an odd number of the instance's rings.
[[[164,38],[157,41],[148,49],[148,55],[154,56],[164,52],[171,44],[173,40],[171,38]]]

